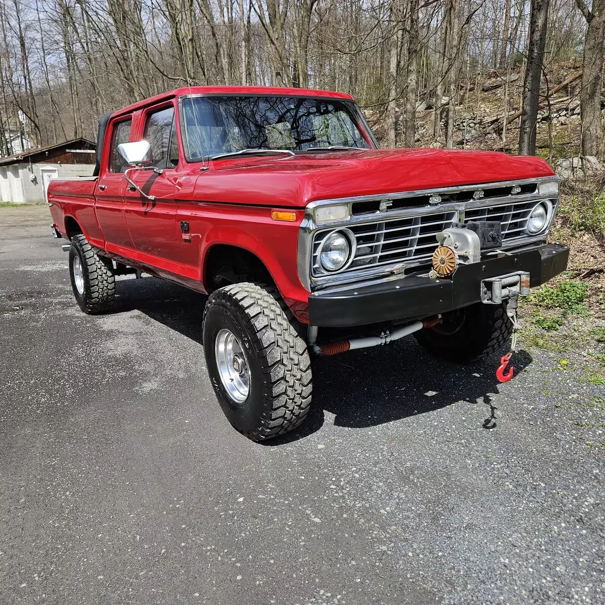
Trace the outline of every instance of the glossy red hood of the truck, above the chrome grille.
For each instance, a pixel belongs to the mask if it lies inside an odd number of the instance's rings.
[[[544,160],[492,151],[367,149],[215,160],[194,199],[303,208],[311,201],[554,175]]]

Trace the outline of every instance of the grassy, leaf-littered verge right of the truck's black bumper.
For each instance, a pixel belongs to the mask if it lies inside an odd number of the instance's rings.
[[[567,272],[520,305],[520,348],[552,359],[548,384],[580,376],[586,391],[553,399],[585,433],[586,446],[605,450],[605,195],[603,180],[561,183],[561,208],[551,241],[570,247]],[[551,374],[556,373],[556,374]],[[590,389],[592,387],[592,390]],[[603,387],[595,396],[594,387]],[[598,392],[598,389],[597,389]]]

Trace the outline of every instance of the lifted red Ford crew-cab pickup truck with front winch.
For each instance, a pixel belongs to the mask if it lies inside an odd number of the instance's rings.
[[[414,333],[485,357],[514,336],[518,296],[567,266],[546,243],[546,162],[379,149],[347,94],[181,88],[103,116],[96,154],[93,177],[48,188],[77,303],[108,312],[129,272],[208,293],[208,371],[250,439],[304,419],[310,354]]]

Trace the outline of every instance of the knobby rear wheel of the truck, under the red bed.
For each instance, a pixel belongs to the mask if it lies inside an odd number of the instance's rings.
[[[100,257],[82,234],[71,238],[70,278],[76,302],[84,313],[97,315],[113,307],[116,296],[113,263]]]

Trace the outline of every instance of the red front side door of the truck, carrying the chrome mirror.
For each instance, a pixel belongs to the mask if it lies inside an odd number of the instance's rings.
[[[152,165],[162,174],[148,170],[128,173],[149,200],[128,185],[124,192],[126,224],[137,260],[171,273],[181,273],[180,251],[183,246],[180,225],[176,222],[175,191],[178,178],[178,143],[174,103],[152,107],[143,115],[140,139],[151,146]]]

